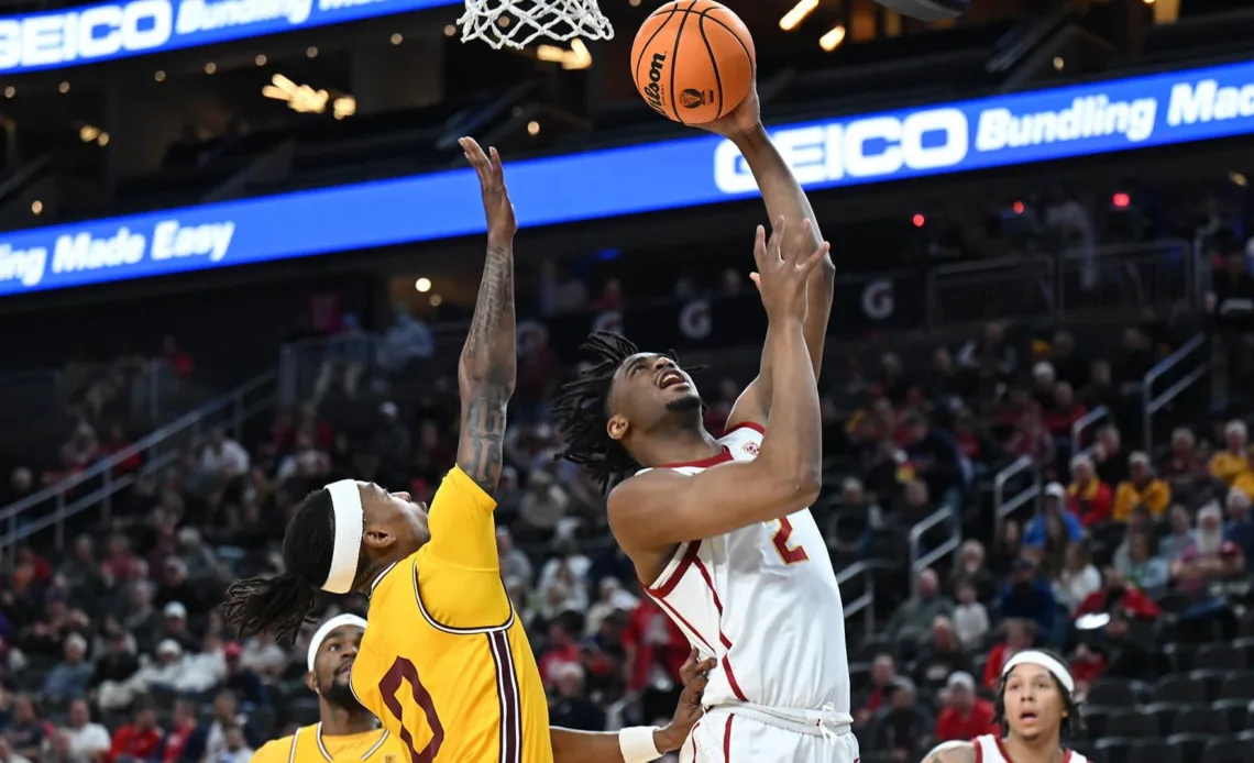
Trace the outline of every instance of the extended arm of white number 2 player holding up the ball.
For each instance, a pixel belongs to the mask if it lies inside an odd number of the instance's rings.
[[[793,229],[806,237],[806,251],[813,252],[818,248],[823,242],[819,221],[814,215],[805,190],[801,189],[801,184],[798,183],[788,162],[780,155],[775,144],[771,143],[770,135],[766,134],[766,128],[762,127],[756,81],[750,88],[749,96],[730,114],[701,127],[736,144],[745,163],[749,164],[750,172],[754,173],[754,180],[757,182],[757,189],[762,194],[770,218],[782,217],[794,223]],[[803,221],[810,223],[804,232],[796,226]],[[823,346],[828,336],[828,321],[831,317],[831,294],[835,279],[836,268],[831,263],[831,258],[825,256],[810,273],[808,284],[805,343],[814,365],[815,378],[819,377],[823,366]],[[745,388],[727,416],[729,427],[746,421],[766,423],[771,402],[771,373],[766,368],[766,362],[767,358],[764,353],[761,372]]]

